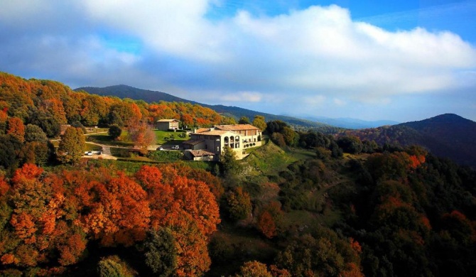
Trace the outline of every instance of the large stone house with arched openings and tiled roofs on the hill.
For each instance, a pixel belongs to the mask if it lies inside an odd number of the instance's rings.
[[[238,159],[242,159],[246,156],[245,148],[261,146],[261,130],[249,124],[217,125],[214,128],[198,129],[182,145],[185,150],[212,153],[213,161],[217,161],[223,148],[228,146],[237,153]]]

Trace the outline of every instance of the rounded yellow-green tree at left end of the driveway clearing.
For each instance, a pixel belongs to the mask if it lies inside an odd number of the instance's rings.
[[[61,136],[58,148],[58,161],[62,163],[77,163],[84,154],[85,136],[80,128],[69,127]]]

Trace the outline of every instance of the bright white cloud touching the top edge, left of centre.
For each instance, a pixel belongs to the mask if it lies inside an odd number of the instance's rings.
[[[86,0],[83,3],[93,21],[138,36],[158,52],[198,60],[220,59],[217,45],[225,34],[220,26],[203,17],[210,7],[209,1]]]

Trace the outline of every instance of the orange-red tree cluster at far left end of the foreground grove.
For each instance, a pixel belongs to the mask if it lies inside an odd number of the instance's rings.
[[[17,239],[3,249],[2,263],[36,266],[52,257],[61,265],[76,263],[86,248],[85,233],[68,218],[62,179],[26,164],[16,170],[11,182],[9,236]],[[59,256],[52,255],[56,251]]]

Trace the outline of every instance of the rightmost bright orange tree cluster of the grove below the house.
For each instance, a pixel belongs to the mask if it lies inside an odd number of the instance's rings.
[[[135,177],[148,192],[151,226],[168,227],[175,238],[176,274],[198,276],[207,271],[211,262],[207,236],[220,223],[218,205],[210,188],[201,181],[178,175],[171,165],[160,170],[144,165]]]

